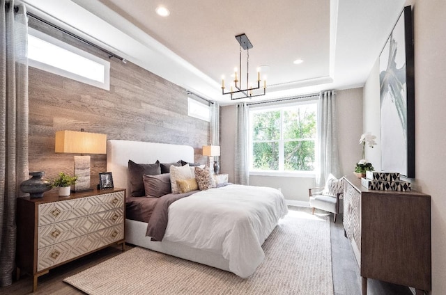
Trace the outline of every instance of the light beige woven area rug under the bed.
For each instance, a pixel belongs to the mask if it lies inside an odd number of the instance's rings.
[[[265,260],[247,279],[135,247],[64,282],[91,295],[333,294],[327,216],[291,209],[262,248]]]

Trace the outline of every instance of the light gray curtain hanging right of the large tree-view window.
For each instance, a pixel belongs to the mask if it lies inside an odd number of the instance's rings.
[[[328,175],[340,177],[339,152],[337,143],[336,99],[334,91],[321,92],[318,103],[318,150],[319,163],[316,185],[323,186]]]

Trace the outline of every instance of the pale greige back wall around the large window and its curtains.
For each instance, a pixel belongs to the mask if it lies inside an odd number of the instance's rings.
[[[339,129],[339,161],[342,175],[353,175],[355,163],[360,160],[359,139],[362,132],[362,88],[337,90],[337,121]],[[236,106],[222,106],[221,171],[234,175],[234,143],[236,138]],[[339,175],[341,177],[342,175]],[[283,177],[251,175],[249,184],[282,189],[287,200],[308,202],[308,189],[315,186],[314,177]]]

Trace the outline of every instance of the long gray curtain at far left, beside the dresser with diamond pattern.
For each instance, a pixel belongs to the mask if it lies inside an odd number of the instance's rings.
[[[15,199],[28,179],[27,18],[23,4],[0,0],[0,287],[13,282]]]

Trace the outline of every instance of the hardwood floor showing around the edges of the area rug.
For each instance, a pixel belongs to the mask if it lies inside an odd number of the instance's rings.
[[[359,268],[353,257],[348,239],[344,237],[342,226],[342,216],[338,217],[337,223],[333,223],[333,216],[330,216],[330,231],[332,241],[332,273],[334,295],[360,295],[361,282]],[[132,248],[126,245],[126,250]],[[38,288],[35,294],[64,294],[75,295],[84,294],[79,290],[63,282],[63,279],[72,276],[79,271],[88,269],[95,264],[114,257],[121,253],[120,246],[109,247],[93,253],[79,260],[75,260],[56,269],[52,269],[38,279]],[[22,276],[13,285],[0,288],[0,294],[22,295],[31,294],[32,278],[28,275]],[[408,287],[393,285],[378,280],[369,280],[368,295],[412,295]]]

